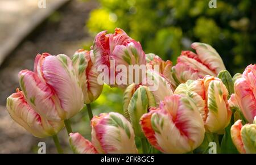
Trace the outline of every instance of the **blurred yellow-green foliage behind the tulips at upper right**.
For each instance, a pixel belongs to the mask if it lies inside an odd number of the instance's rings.
[[[194,41],[216,48],[233,75],[255,63],[256,1],[217,0],[98,0],[100,8],[86,23],[92,35],[115,27],[141,42],[146,53],[156,53],[174,64],[181,50]]]

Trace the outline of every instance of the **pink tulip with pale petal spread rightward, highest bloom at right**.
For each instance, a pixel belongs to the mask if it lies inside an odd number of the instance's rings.
[[[212,46],[204,43],[191,45],[196,53],[183,51],[177,58],[177,64],[172,67],[172,75],[177,84],[185,83],[188,79],[196,80],[205,75],[216,77],[221,70],[225,70],[220,55]]]

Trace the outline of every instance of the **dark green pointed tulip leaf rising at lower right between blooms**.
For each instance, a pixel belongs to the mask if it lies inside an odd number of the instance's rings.
[[[231,125],[229,124],[225,128],[225,134],[221,141],[221,153],[222,154],[238,154],[236,146],[234,146],[231,134],[230,134]]]

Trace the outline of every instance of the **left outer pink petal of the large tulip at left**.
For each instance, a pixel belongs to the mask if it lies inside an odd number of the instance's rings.
[[[54,92],[47,84],[40,81],[38,75],[29,70],[22,70],[19,72],[19,84],[27,103],[37,113],[48,120],[61,120],[56,109]]]

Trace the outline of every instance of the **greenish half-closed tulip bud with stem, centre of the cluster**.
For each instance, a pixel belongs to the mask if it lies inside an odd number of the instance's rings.
[[[131,122],[135,136],[143,137],[139,119],[151,107],[155,107],[154,95],[146,86],[130,84],[123,94],[123,114]]]

